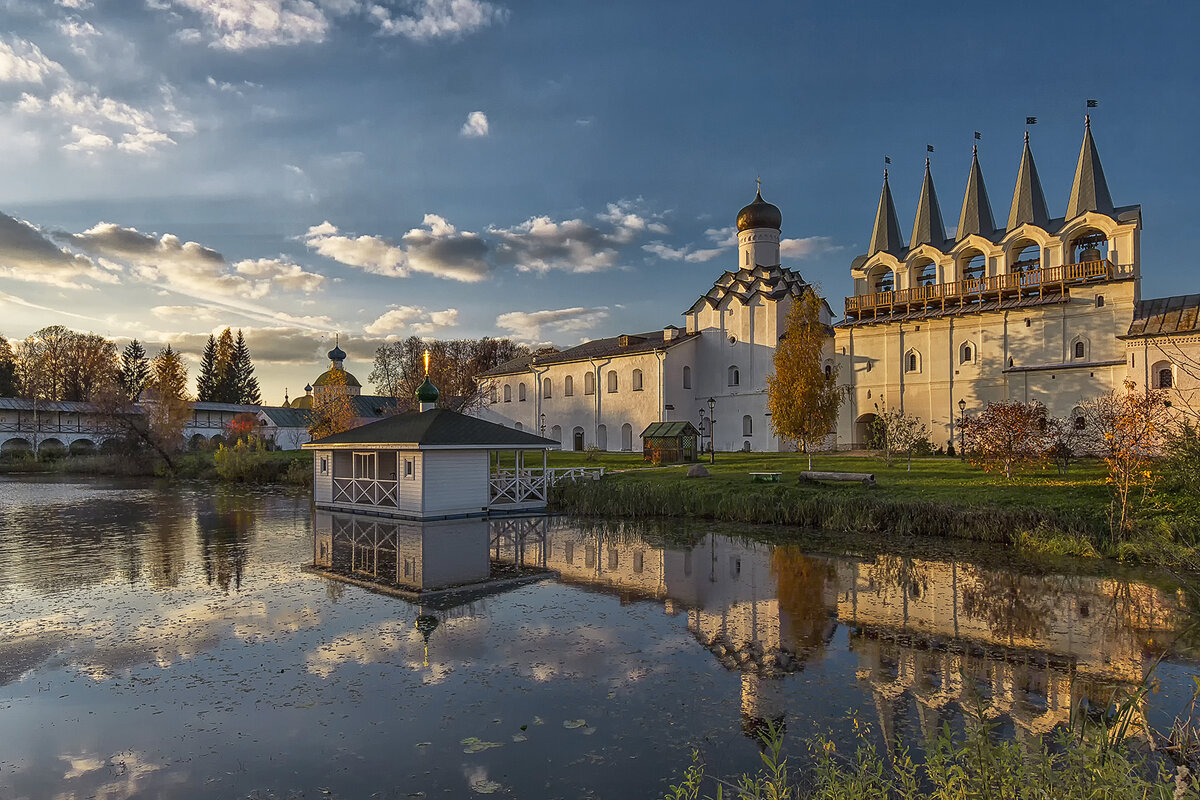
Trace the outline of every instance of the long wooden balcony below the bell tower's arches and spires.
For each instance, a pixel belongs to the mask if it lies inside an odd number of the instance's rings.
[[[1132,266],[1116,266],[1105,259],[1103,261],[1048,266],[1027,272],[995,275],[986,278],[931,283],[911,289],[876,291],[875,294],[846,297],[846,319],[870,320],[896,311],[928,309],[936,312],[989,300],[1066,294],[1068,287],[1102,283],[1124,277],[1133,277]]]

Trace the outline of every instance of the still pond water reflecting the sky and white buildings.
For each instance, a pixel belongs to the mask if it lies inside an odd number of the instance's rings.
[[[649,798],[692,746],[755,769],[766,721],[796,754],[851,715],[917,744],[979,709],[1024,738],[1170,652],[1142,709],[1164,726],[1200,672],[1168,577],[716,527],[660,545],[672,524],[437,536],[306,494],[0,479],[0,800]]]

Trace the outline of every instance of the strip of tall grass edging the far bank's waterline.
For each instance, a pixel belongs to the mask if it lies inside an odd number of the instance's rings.
[[[1086,517],[1045,509],[950,505],[782,485],[748,491],[698,481],[578,481],[556,487],[551,504],[556,511],[586,517],[695,517],[991,542],[1012,542],[1021,531],[1054,530],[1084,541],[1097,534]]]

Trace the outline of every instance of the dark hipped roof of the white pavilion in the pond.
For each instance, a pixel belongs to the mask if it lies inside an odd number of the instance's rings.
[[[446,408],[398,414],[305,444],[308,450],[343,445],[410,447],[494,447],[557,450],[562,445],[524,431],[467,416]]]

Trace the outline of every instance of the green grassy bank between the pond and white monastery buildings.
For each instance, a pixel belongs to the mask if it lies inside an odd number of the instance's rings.
[[[954,458],[913,459],[893,467],[868,456],[820,456],[814,468],[871,473],[877,486],[802,483],[808,458],[793,453],[718,453],[708,477],[686,477],[685,465],[644,469],[640,455],[605,453],[592,462],[602,481],[563,485],[552,509],[584,517],[691,517],[722,522],[802,525],[833,533],[940,536],[1015,545],[1046,554],[1160,561],[1190,558],[1200,529],[1195,498],[1152,494],[1138,534],[1112,542],[1110,493],[1102,464],[1082,461],[1066,476],[1050,468],[1007,480]],[[622,461],[624,459],[624,461]],[[551,465],[587,463],[582,453],[554,453]],[[780,473],[758,483],[751,473]]]

